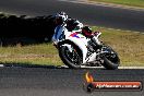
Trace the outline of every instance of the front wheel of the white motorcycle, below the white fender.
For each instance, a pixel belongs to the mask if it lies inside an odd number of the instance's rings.
[[[67,46],[59,47],[59,56],[69,68],[81,68],[82,59],[80,50],[75,45],[71,45],[71,51]]]

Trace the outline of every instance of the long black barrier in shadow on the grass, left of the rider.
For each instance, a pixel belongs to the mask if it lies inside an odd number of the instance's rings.
[[[55,29],[55,17],[41,15],[13,15],[0,13],[0,45],[14,46],[50,41]]]

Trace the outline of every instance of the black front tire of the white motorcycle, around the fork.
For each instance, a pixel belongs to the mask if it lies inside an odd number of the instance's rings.
[[[61,60],[63,61],[63,63],[65,65],[68,65],[69,68],[71,68],[71,69],[79,69],[79,68],[81,68],[81,64],[82,64],[82,58],[81,58],[81,52],[80,52],[81,50],[73,43],[69,43],[69,45],[71,45],[73,47],[73,49],[75,50],[75,51],[73,51],[75,53],[75,61],[71,61],[70,60],[71,58],[68,57],[68,55],[65,55],[67,47],[61,46],[61,45],[59,46],[59,57],[61,58]]]

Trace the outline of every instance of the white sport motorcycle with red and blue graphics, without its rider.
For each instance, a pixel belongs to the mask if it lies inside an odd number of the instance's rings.
[[[100,32],[95,32],[94,38],[99,41],[100,35]],[[69,32],[64,26],[57,26],[53,37],[57,37],[53,45],[59,51],[60,59],[69,68],[103,65],[108,70],[116,70],[120,64],[118,53],[110,46],[99,41],[103,46],[94,48],[92,40],[81,31]]]

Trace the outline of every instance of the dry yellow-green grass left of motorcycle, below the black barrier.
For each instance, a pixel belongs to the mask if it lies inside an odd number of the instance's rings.
[[[0,47],[1,63],[62,65],[57,49],[51,44]]]

